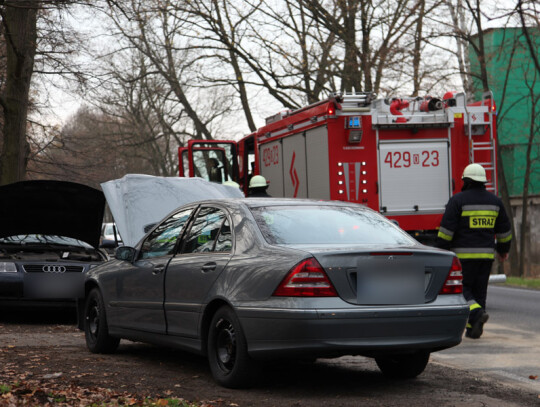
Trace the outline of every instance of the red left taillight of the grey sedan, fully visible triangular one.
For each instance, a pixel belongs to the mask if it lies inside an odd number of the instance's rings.
[[[311,257],[289,271],[274,296],[337,297],[337,292],[319,262]]]

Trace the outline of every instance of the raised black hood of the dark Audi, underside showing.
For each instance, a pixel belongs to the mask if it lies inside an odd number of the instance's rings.
[[[21,181],[0,187],[0,237],[41,234],[99,246],[103,192],[66,181]]]

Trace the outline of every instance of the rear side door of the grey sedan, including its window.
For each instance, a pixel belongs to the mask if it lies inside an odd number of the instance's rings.
[[[231,258],[233,236],[225,209],[203,206],[171,259],[165,281],[167,333],[196,338],[212,285]]]

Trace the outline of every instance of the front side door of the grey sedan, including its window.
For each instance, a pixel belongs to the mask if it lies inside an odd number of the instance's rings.
[[[182,210],[164,220],[146,237],[137,259],[116,276],[116,301],[111,305],[117,308],[120,327],[166,333],[165,270],[192,212],[193,208]]]

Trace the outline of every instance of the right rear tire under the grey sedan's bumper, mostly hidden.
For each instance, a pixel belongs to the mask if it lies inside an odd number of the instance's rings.
[[[375,358],[381,372],[391,379],[412,379],[424,371],[429,352],[389,355]]]

